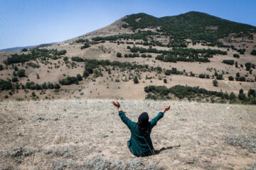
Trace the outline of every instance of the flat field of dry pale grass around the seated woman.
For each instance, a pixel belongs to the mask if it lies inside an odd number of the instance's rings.
[[[159,154],[129,152],[111,100],[0,103],[0,169],[255,169],[256,106],[119,101],[127,117],[170,111],[151,132]]]

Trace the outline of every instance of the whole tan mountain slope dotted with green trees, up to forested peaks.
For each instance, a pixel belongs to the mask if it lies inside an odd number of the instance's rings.
[[[255,37],[254,26],[206,13],[132,14],[70,40],[0,52],[0,98],[255,104]]]

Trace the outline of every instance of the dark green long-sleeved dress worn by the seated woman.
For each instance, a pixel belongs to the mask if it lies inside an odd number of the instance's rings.
[[[129,120],[123,111],[119,111],[119,116],[131,131],[131,139],[127,141],[127,145],[132,154],[137,157],[145,157],[154,154],[154,147],[150,133],[152,128],[154,128],[156,125],[157,121],[163,118],[164,113],[160,112],[154,119],[149,122],[150,126],[148,135],[144,135],[142,132],[140,132],[137,123]]]

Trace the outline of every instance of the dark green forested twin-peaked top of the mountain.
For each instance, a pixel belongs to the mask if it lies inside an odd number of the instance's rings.
[[[156,18],[146,13],[127,16],[123,20],[132,30],[142,28],[157,28],[159,32],[173,35],[176,38],[191,38],[192,40],[216,41],[230,33],[256,33],[256,27],[235,23],[207,13],[188,12],[178,16]]]

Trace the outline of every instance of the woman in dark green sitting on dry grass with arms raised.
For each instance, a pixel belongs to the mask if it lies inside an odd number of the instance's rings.
[[[121,120],[131,131],[131,139],[127,141],[127,145],[132,154],[137,157],[145,157],[154,154],[154,147],[150,133],[157,121],[163,118],[164,113],[170,109],[170,105],[165,106],[164,110],[156,115],[156,117],[151,121],[149,121],[149,115],[146,112],[142,113],[139,115],[138,122],[135,123],[124,115],[118,101],[112,101],[112,103],[118,108]]]

